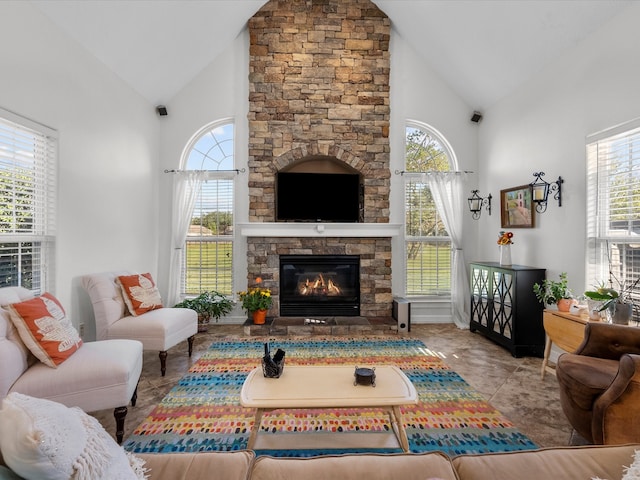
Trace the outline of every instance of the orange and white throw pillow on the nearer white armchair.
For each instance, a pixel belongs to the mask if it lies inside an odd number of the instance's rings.
[[[82,345],[78,331],[50,293],[7,307],[20,338],[38,360],[57,367]]]

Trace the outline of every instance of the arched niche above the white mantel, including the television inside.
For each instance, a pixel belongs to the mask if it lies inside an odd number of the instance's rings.
[[[276,221],[363,221],[362,175],[335,157],[311,155],[276,173]]]

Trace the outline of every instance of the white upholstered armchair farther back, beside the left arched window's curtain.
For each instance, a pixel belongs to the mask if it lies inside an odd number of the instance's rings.
[[[142,342],[144,350],[157,350],[162,376],[167,370],[167,350],[187,340],[189,356],[198,331],[198,314],[188,308],[164,307],[142,315],[129,314],[116,280],[132,272],[85,275],[82,286],[89,294],[96,321],[96,339],[128,338]]]

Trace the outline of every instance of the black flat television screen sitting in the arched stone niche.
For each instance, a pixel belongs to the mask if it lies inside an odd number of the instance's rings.
[[[279,172],[276,220],[358,222],[360,176],[342,173]]]

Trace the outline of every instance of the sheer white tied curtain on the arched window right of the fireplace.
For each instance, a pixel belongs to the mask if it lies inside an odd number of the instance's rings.
[[[451,316],[459,328],[469,328],[469,275],[462,251],[465,177],[464,173],[457,172],[430,172],[426,175],[436,208],[451,238]]]

